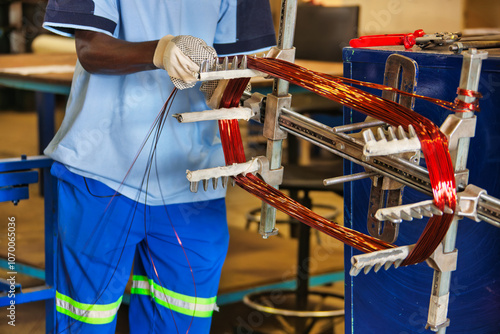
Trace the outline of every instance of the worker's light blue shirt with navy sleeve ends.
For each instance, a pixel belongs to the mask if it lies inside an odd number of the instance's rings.
[[[248,0],[246,6],[251,1],[262,3]],[[273,45],[274,32],[262,27],[252,36],[249,26],[239,38],[238,7],[237,0],[51,0],[44,27],[63,35],[93,30],[130,42],[192,35],[227,53]],[[220,186],[191,193],[186,179],[186,170],[224,165],[217,123],[179,124],[172,117],[208,109],[199,84],[177,93],[160,134],[152,127],[173,88],[163,70],[98,75],[77,63],[66,116],[45,154],[148,205],[223,197]]]

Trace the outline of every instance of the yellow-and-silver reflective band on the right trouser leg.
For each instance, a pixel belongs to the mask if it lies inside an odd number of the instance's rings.
[[[200,298],[168,290],[146,276],[133,276],[132,293],[151,296],[154,300],[173,311],[200,318],[211,317],[218,310],[216,297]]]

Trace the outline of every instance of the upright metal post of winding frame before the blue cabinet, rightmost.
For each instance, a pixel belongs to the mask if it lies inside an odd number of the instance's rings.
[[[471,49],[468,53],[464,54],[462,74],[460,77],[460,88],[477,91],[479,87],[482,60],[485,59],[487,55],[488,54],[485,52],[478,53],[476,49]],[[458,98],[466,103],[470,103],[474,99],[467,96],[459,96]],[[471,118],[474,117],[474,113],[457,112],[455,113],[455,116],[459,118]],[[469,154],[469,144],[470,138],[459,139],[456,155],[452,155],[452,162],[455,166],[455,172],[466,170],[467,157]],[[445,254],[453,252],[455,249],[458,220],[458,216],[455,215],[450,228],[443,239],[443,252]],[[445,334],[446,327],[450,323],[449,319],[447,319],[450,282],[451,271],[441,272],[439,270],[434,270],[427,327],[439,334]]]

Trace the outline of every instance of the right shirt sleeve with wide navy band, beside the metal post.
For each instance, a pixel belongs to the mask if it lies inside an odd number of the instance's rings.
[[[232,2],[217,27],[214,48],[219,55],[249,53],[276,45],[269,0]]]

